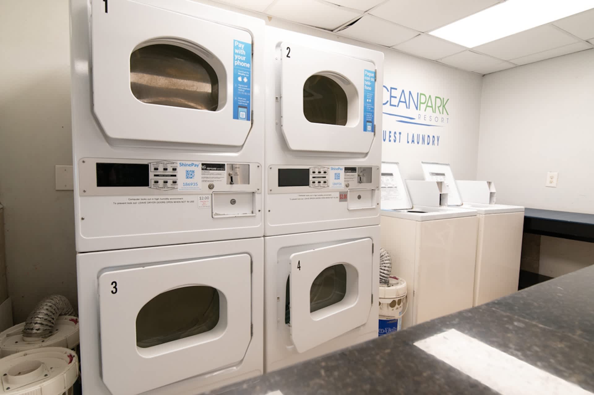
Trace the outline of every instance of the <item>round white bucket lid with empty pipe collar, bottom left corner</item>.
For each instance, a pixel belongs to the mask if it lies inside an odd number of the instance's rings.
[[[62,395],[78,378],[78,357],[63,347],[27,350],[0,359],[3,394]]]

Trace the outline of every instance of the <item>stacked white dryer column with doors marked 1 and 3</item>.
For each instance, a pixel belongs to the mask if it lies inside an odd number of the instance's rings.
[[[263,372],[263,34],[189,0],[71,1],[85,394]]]

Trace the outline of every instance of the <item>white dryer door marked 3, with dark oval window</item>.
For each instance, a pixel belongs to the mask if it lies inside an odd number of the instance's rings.
[[[101,364],[111,393],[241,362],[251,340],[250,267],[249,255],[236,254],[102,273]]]

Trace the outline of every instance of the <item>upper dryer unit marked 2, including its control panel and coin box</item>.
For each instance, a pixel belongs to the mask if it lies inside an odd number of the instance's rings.
[[[383,53],[266,27],[264,235],[380,223]]]

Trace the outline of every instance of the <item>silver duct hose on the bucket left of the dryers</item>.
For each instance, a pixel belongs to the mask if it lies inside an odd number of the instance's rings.
[[[52,333],[59,315],[74,315],[74,309],[65,296],[52,295],[43,299],[25,321],[24,337],[45,337]]]

